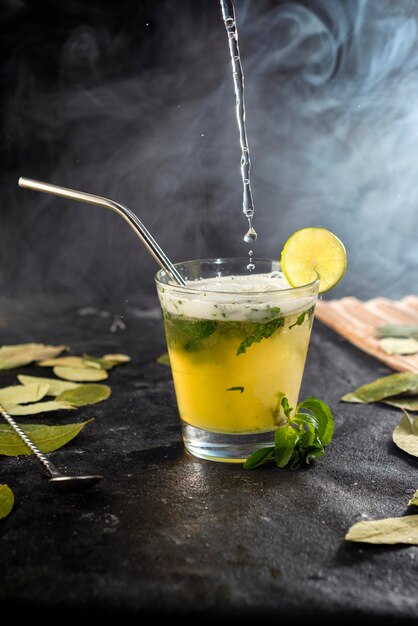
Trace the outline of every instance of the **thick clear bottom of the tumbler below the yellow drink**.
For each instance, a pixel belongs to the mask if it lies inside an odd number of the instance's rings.
[[[182,422],[184,447],[199,459],[244,463],[259,448],[274,445],[274,430],[262,433],[213,433]]]

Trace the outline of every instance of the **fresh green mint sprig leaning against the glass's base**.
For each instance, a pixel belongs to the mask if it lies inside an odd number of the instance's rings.
[[[277,467],[296,470],[325,454],[325,447],[334,435],[334,418],[329,406],[318,398],[307,398],[298,404],[294,415],[292,411],[287,397],[279,392],[273,411],[279,424],[274,446],[254,452],[245,461],[244,469],[274,461]]]

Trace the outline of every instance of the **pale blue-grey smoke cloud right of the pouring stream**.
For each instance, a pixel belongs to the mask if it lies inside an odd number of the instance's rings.
[[[416,3],[317,0],[247,16],[257,223],[270,254],[277,233],[284,243],[321,225],[348,248],[333,297],[414,293]]]

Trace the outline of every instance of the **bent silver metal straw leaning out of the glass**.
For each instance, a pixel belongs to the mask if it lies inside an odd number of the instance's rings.
[[[85,193],[84,191],[77,191],[76,189],[68,189],[67,187],[51,185],[50,183],[44,183],[39,180],[33,180],[31,178],[20,177],[19,187],[33,189],[34,191],[44,191],[45,193],[50,193],[54,196],[71,198],[71,200],[78,200],[79,202],[86,202],[87,204],[96,204],[97,206],[104,206],[108,209],[111,209],[112,211],[115,211],[115,213],[118,213],[118,215],[123,217],[133,228],[137,236],[141,239],[142,243],[145,244],[149,252],[151,252],[152,256],[160,265],[160,267],[162,267],[169,274],[171,274],[177,283],[186,286],[184,278],[174,267],[170,259],[160,248],[158,243],[145,228],[143,223],[138,219],[135,213],[132,213],[132,211],[123,206],[123,204],[119,204],[119,202],[115,202],[114,200],[111,200],[110,198],[105,198],[104,196],[95,196],[91,193]]]

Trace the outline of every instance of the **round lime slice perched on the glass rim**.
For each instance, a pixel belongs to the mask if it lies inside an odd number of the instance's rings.
[[[340,282],[347,269],[344,244],[325,228],[302,228],[286,241],[280,259],[292,287],[307,285],[319,274],[319,293]]]

